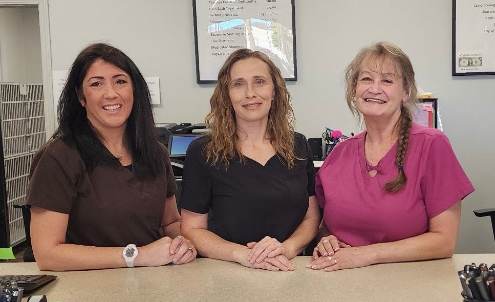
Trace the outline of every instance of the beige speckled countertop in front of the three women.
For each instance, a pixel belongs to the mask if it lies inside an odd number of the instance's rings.
[[[48,301],[462,301],[457,271],[475,262],[491,265],[495,254],[379,264],[325,272],[296,257],[289,272],[197,259],[185,265],[76,272],[40,272],[35,263],[0,264],[0,274],[54,274],[32,294]],[[26,299],[24,299],[26,300]],[[23,300],[23,301],[24,301]]]

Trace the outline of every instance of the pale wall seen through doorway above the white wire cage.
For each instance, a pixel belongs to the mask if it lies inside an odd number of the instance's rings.
[[[2,82],[41,83],[37,7],[0,8]]]

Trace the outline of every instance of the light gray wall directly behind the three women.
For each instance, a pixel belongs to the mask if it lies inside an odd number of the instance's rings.
[[[343,100],[343,70],[360,47],[389,40],[410,55],[420,87],[439,98],[444,131],[477,191],[463,202],[458,253],[494,252],[495,77],[452,77],[451,0],[296,0],[299,80],[289,83],[297,131],[318,137],[324,126],[357,132]],[[159,76],[157,122],[202,122],[212,85],[196,83],[191,1],[49,0],[53,69],[68,69],[93,41],[124,50],[145,76]],[[95,9],[96,8],[96,9]]]

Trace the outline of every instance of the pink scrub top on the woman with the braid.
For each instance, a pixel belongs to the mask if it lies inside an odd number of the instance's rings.
[[[428,230],[428,220],[475,190],[447,137],[413,123],[404,162],[407,183],[398,193],[398,143],[378,162],[375,177],[364,158],[366,132],[340,142],[319,169],[315,191],[330,233],[351,246],[394,242]]]

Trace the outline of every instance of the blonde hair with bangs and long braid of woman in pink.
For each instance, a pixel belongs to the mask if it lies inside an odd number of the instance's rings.
[[[369,47],[362,48],[354,60],[346,68],[346,101],[354,115],[361,120],[361,114],[353,101],[356,94],[356,85],[359,73],[365,67],[370,67],[377,72],[381,72],[387,60],[395,62],[396,75],[402,77],[404,89],[409,91],[406,103],[403,103],[400,111],[400,118],[397,124],[399,134],[399,147],[395,157],[395,163],[399,170],[397,178],[388,182],[384,186],[386,192],[398,192],[406,184],[407,178],[404,172],[404,159],[407,153],[407,145],[411,133],[413,116],[411,106],[417,102],[418,90],[414,78],[413,64],[409,57],[395,44],[390,42],[378,42]]]

